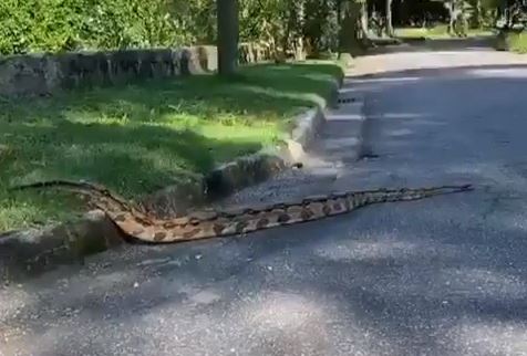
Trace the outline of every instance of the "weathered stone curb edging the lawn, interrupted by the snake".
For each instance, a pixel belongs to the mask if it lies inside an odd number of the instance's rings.
[[[266,147],[221,165],[197,186],[167,187],[146,199],[145,206],[164,206],[161,214],[163,210],[182,213],[194,205],[225,197],[287,169],[302,158],[304,149],[318,136],[326,119],[326,108],[337,104],[343,77],[342,73],[334,82],[330,97],[320,106],[298,115],[286,147]],[[87,212],[75,222],[8,232],[0,235],[0,281],[34,276],[59,265],[82,264],[85,256],[124,241],[116,226],[99,210]]]

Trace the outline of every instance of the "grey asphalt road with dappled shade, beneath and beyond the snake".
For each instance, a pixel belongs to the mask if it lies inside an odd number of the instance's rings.
[[[527,355],[527,59],[443,44],[359,61],[376,158],[334,145],[342,107],[319,165],[231,201],[475,191],[103,253],[1,290],[0,355]]]

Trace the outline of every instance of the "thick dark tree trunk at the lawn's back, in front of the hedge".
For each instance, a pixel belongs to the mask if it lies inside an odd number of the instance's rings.
[[[238,67],[238,0],[216,0],[218,6],[218,73],[232,76]]]

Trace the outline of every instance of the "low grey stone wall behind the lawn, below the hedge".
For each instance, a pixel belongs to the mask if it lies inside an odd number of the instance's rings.
[[[270,51],[258,44],[242,43],[239,53],[242,64],[270,59]],[[217,48],[213,45],[0,56],[0,95],[46,95],[56,90],[216,70]]]

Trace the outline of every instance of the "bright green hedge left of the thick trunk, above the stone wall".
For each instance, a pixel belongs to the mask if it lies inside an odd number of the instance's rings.
[[[214,29],[213,0],[3,0],[0,53],[170,46]],[[204,29],[206,28],[206,29]]]

